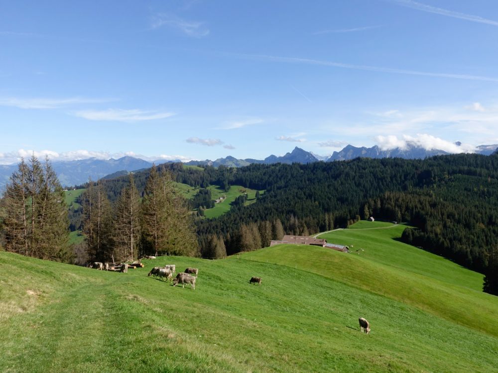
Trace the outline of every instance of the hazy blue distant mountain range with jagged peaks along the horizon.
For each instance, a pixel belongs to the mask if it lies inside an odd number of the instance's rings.
[[[456,143],[460,145],[460,143]],[[478,154],[490,155],[498,154],[498,144],[495,145],[481,145],[477,147]],[[449,154],[443,150],[425,150],[413,143],[407,143],[404,149],[396,148],[389,150],[381,150],[378,146],[374,145],[371,148],[355,147],[347,145],[339,152],[334,152],[330,157],[317,156],[311,152],[307,152],[301,148],[295,147],[290,153],[283,156],[270,155],[263,160],[246,158],[237,159],[232,156],[225,158],[218,158],[215,161],[209,159],[205,161],[190,161],[186,165],[191,166],[226,166],[226,167],[244,167],[251,163],[259,164],[273,164],[273,163],[312,163],[312,162],[331,162],[331,161],[345,161],[358,157],[366,158],[405,158],[405,159],[418,159],[432,157],[435,155]],[[91,177],[92,180],[99,180],[101,178],[111,179],[120,175],[126,174],[128,171],[137,171],[145,168],[152,167],[152,163],[156,165],[161,163],[181,162],[180,160],[164,161],[157,160],[155,162],[144,161],[134,157],[123,157],[120,159],[102,160],[97,158],[89,158],[78,161],[54,161],[52,166],[57,173],[59,180],[63,186],[76,186],[84,184]],[[17,165],[0,165],[0,188],[4,187],[9,180],[10,175],[17,170]]]

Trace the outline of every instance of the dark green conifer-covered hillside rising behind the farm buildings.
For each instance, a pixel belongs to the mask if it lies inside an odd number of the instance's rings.
[[[222,238],[228,254],[265,246],[275,221],[286,233],[311,234],[374,216],[404,221],[402,240],[494,278],[498,247],[498,157],[471,154],[425,160],[366,159],[309,165],[250,165],[204,171],[161,165],[198,187],[265,189],[257,203],[233,204],[217,219],[197,219],[201,247]],[[147,171],[135,174],[143,189]],[[126,178],[107,181],[115,199]],[[496,280],[495,280],[496,281]],[[492,286],[493,287],[493,286]]]

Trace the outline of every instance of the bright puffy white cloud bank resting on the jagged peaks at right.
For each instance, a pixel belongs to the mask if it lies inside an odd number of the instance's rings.
[[[376,136],[375,140],[382,150],[406,149],[409,144],[413,144],[425,150],[443,150],[448,153],[474,153],[476,151],[475,146],[469,144],[461,144],[459,146],[439,137],[420,133],[416,136],[403,135],[402,138],[394,135]]]

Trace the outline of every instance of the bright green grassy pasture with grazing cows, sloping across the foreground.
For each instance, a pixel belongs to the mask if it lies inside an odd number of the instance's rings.
[[[0,252],[0,371],[497,372],[498,298],[474,289],[480,275],[401,248],[402,228],[329,233],[357,239],[360,255],[280,245],[218,261],[144,260],[128,274]],[[381,263],[383,250],[425,269]],[[147,277],[169,263],[199,268],[196,289]],[[410,291],[398,293],[403,285]],[[451,299],[476,321],[455,320]]]

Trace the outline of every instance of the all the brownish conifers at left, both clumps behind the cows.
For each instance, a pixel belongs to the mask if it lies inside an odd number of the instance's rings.
[[[84,242],[73,247],[64,190],[50,162],[21,160],[0,201],[0,243],[10,252],[75,264],[200,255],[192,214],[170,173],[152,167],[141,193],[133,174],[126,178],[114,203],[103,182],[85,185],[78,210]]]

